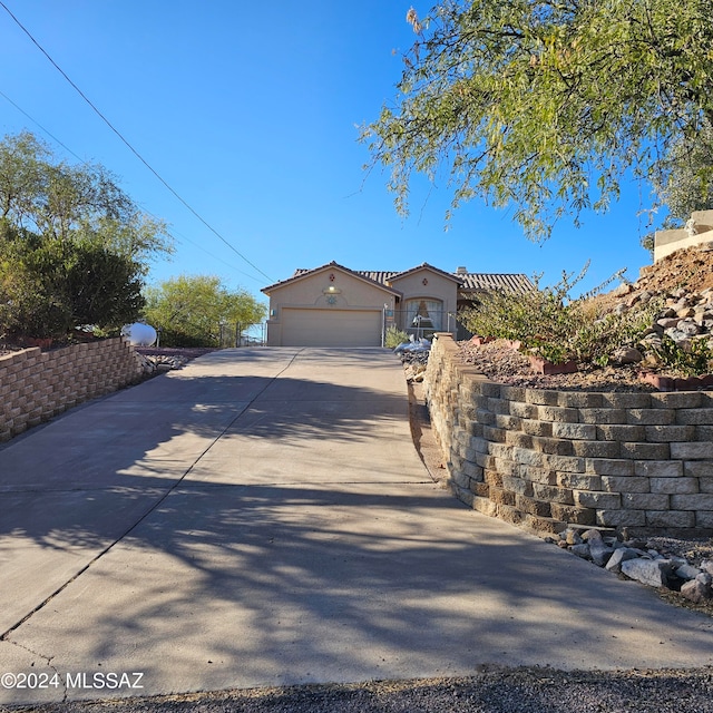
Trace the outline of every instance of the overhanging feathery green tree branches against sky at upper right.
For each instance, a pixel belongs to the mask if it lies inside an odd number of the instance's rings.
[[[516,207],[531,238],[606,211],[634,175],[665,182],[671,152],[713,124],[713,0],[441,0],[407,20],[394,106],[362,128],[408,212],[413,173],[451,208]],[[696,170],[696,176],[702,173]],[[705,180],[703,180],[705,183]]]

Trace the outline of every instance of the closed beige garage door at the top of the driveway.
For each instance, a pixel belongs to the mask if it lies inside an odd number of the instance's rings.
[[[381,346],[381,311],[282,309],[283,346]]]

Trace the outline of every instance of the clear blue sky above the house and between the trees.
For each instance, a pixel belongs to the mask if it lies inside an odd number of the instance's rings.
[[[218,275],[258,297],[296,267],[544,273],[592,266],[585,287],[651,262],[641,188],[606,216],[563,223],[543,245],[480,202],[445,231],[447,185],[412,186],[397,215],[385,174],[363,170],[358,126],[394,96],[413,39],[412,0],[3,0],[37,42],[146,162],[248,262],[144,166],[0,7],[0,133],[29,129],[100,163],[170,225],[176,254],[150,280]],[[37,123],[37,124],[36,124]],[[70,162],[76,162],[67,155]],[[643,196],[644,203],[646,195]]]

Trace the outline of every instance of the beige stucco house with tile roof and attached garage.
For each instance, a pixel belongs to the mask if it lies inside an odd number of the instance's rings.
[[[403,272],[350,270],[335,262],[297,270],[264,287],[271,346],[380,346],[390,325],[416,336],[458,333],[456,312],[490,290],[531,289],[522,274],[445,272],[428,263]]]

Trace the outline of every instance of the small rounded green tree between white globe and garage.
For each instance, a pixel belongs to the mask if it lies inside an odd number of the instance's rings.
[[[256,324],[265,306],[248,292],[229,291],[219,277],[182,275],[146,291],[146,321],[167,346],[218,346],[221,323]]]

